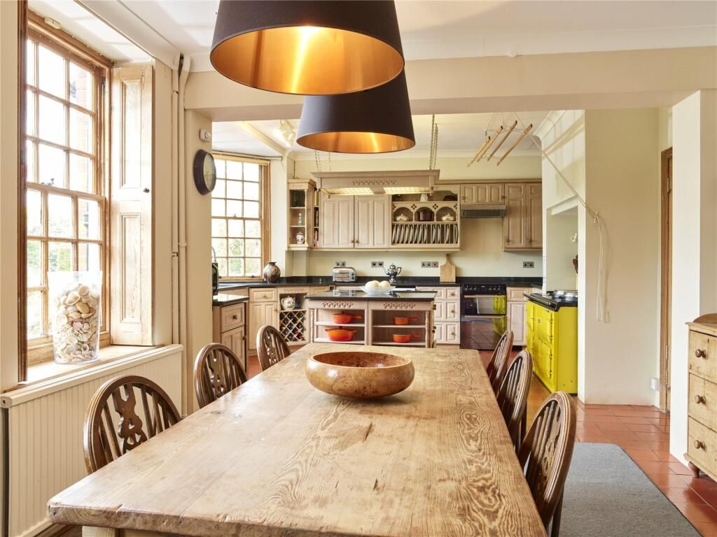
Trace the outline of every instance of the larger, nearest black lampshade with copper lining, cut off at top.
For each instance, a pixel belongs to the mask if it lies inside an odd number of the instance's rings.
[[[221,0],[210,59],[235,82],[298,95],[380,86],[404,67],[393,0]]]

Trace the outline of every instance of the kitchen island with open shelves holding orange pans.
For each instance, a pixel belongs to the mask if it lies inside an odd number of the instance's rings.
[[[434,291],[394,291],[375,295],[337,290],[307,295],[309,341],[432,347],[435,297]],[[407,342],[397,341],[406,337],[409,337]]]

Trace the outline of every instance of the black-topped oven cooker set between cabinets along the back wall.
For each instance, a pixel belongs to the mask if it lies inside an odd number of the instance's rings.
[[[460,296],[460,348],[492,351],[507,329],[505,284],[462,284]]]

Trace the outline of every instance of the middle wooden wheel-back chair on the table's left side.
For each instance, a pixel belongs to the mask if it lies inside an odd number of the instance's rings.
[[[219,343],[202,347],[194,360],[194,392],[199,408],[247,382],[237,355]]]

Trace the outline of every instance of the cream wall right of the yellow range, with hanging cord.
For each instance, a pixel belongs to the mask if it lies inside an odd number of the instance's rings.
[[[655,394],[655,315],[659,296],[660,229],[655,227],[657,109],[587,110],[585,169],[588,205],[607,236],[606,321],[595,315],[599,232],[581,230],[584,296],[585,402],[651,405]]]

